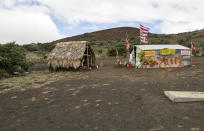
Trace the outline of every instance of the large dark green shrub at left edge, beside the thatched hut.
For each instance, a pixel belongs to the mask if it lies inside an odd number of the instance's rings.
[[[0,69],[6,73],[12,74],[15,71],[27,71],[30,63],[26,61],[25,50],[15,42],[0,45]],[[6,72],[6,73],[5,73]]]

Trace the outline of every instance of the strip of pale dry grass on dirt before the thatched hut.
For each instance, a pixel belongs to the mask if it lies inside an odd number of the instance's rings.
[[[25,91],[32,88],[40,88],[58,80],[76,80],[81,79],[83,75],[80,72],[32,72],[29,76],[13,77],[1,80],[0,85],[7,87],[0,90],[0,93],[6,93],[11,90]]]

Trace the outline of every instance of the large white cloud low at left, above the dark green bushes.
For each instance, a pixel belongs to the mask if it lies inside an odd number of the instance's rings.
[[[23,0],[21,0],[23,2]],[[15,3],[6,3],[10,8]],[[0,43],[16,41],[18,44],[49,42],[62,38],[44,6],[16,6],[0,9]]]

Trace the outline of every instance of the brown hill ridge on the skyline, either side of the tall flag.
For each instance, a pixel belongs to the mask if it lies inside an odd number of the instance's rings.
[[[67,37],[54,41],[66,42],[66,41],[111,41],[111,40],[125,40],[126,32],[128,33],[129,38],[139,37],[140,30],[135,27],[118,27],[111,28],[106,30],[100,30],[96,32],[84,33],[77,36]],[[189,41],[196,42],[197,45],[204,45],[204,30],[197,30],[192,32],[184,32],[179,34],[153,34],[148,35],[149,42],[151,44],[181,44],[189,46]]]

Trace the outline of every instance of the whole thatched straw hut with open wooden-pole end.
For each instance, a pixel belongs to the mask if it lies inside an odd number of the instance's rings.
[[[95,54],[87,41],[61,42],[48,56],[50,70],[95,66]]]

